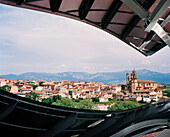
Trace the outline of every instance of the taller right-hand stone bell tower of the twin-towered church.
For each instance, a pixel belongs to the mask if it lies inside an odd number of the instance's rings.
[[[137,86],[138,86],[137,73],[134,69],[131,73],[131,92],[136,91]]]

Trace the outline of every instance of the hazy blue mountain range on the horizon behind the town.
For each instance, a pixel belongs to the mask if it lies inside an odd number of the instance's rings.
[[[100,73],[86,73],[86,72],[62,72],[62,73],[38,73],[28,72],[19,75],[9,74],[0,75],[5,79],[22,79],[22,80],[84,80],[94,81],[107,84],[125,84],[126,73],[131,71],[120,71],[120,72],[100,72]],[[170,84],[170,73],[154,72],[147,69],[137,70],[137,77],[139,80],[153,80],[158,83]]]

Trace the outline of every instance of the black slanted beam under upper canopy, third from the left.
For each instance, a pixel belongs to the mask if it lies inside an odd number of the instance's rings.
[[[83,0],[79,8],[79,17],[85,19],[95,0]]]

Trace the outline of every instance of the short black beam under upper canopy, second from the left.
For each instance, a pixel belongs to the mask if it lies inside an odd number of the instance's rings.
[[[52,12],[57,12],[60,8],[62,0],[50,0],[50,9]]]

